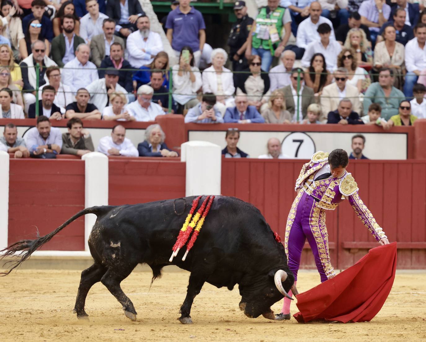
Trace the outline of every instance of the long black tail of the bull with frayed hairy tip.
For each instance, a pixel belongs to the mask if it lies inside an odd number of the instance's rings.
[[[99,214],[106,213],[111,208],[112,208],[111,206],[102,206],[102,207],[90,207],[90,208],[83,209],[79,211],[77,214],[75,214],[74,216],[72,216],[71,218],[69,218],[63,224],[61,224],[53,232],[45,236],[42,236],[35,240],[17,241],[14,244],[11,244],[9,247],[6,247],[4,250],[0,250],[0,254],[3,253],[3,255],[0,257],[0,260],[6,256],[17,257],[17,260],[10,261],[12,263],[12,267],[7,272],[0,273],[0,276],[7,276],[9,273],[11,273],[14,268],[18,267],[22,262],[28,259],[32,253],[34,253],[43,244],[50,241],[56,234],[58,234],[61,230],[63,230],[63,228],[65,228],[68,224],[70,224],[75,219],[86,214],[95,214],[96,216],[99,216]],[[15,255],[15,253],[19,251],[20,253]]]

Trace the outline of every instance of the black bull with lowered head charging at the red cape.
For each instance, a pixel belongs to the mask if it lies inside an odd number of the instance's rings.
[[[81,210],[52,233],[35,240],[18,241],[3,250],[3,257],[22,251],[13,267],[3,275],[9,274],[76,218],[93,213],[98,218],[88,242],[94,264],[81,273],[74,308],[78,318],[87,316],[84,304],[90,287],[102,282],[123,306],[126,316],[136,320],[135,308],[120,283],[137,264],[146,263],[153,270],[153,280],[170,264],[190,271],[187,296],[180,310],[182,323],[192,322],[193,299],[204,282],[226,286],[229,290],[238,284],[242,296],[239,306],[245,315],[256,318],[262,314],[273,319],[271,305],[287,295],[294,276],[288,269],[284,247],[276,241],[265,218],[253,205],[233,197],[216,196],[186,260],[181,260],[184,247],[169,262],[193,199],[194,196]]]

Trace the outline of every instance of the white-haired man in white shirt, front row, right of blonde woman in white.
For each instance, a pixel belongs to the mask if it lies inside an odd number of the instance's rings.
[[[153,103],[154,89],[147,84],[138,89],[138,99],[126,106],[127,112],[136,118],[136,121],[155,121],[158,115],[164,115],[164,110],[157,103]]]

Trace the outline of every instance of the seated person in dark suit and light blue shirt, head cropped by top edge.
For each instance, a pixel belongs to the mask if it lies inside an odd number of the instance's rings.
[[[115,31],[124,39],[136,31],[136,20],[145,14],[138,0],[127,0],[127,9],[125,5],[126,0],[107,1],[107,16],[115,20]]]

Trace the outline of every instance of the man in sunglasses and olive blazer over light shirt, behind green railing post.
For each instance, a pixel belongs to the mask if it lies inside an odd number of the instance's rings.
[[[308,106],[315,103],[314,89],[305,86],[304,72],[300,68],[291,70],[291,83],[279,90],[284,94],[285,107],[293,116],[293,122],[301,123],[306,118]],[[300,80],[299,90],[298,80]]]

